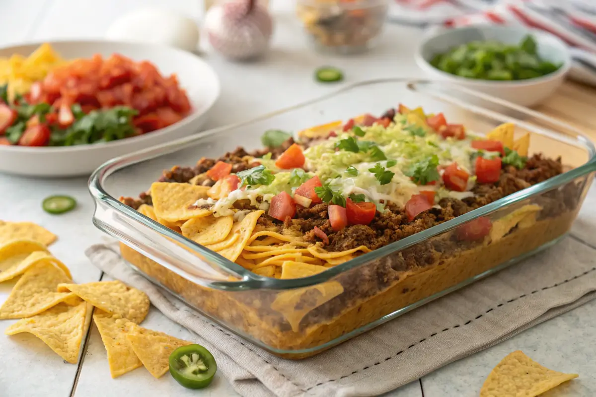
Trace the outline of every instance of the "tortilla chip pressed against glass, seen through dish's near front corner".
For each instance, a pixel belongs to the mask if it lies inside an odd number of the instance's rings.
[[[316,290],[316,292],[313,290]],[[309,311],[330,301],[342,292],[342,285],[336,281],[312,287],[291,289],[278,293],[271,304],[271,308],[285,317],[294,332],[299,332],[300,321]],[[307,293],[309,299],[302,299]]]

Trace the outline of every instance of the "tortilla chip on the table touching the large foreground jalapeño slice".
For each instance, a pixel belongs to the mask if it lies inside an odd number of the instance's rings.
[[[128,323],[126,326],[129,327],[126,340],[147,371],[156,378],[168,371],[170,365],[168,359],[173,351],[181,346],[193,344],[193,342],[178,339],[163,332],[148,330],[133,323]]]

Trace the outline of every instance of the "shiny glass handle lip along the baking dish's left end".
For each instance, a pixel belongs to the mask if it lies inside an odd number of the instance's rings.
[[[126,208],[123,211],[129,212],[126,210],[132,211],[132,216],[131,214],[127,216],[120,211],[114,210],[114,208],[110,208],[107,204],[98,202],[93,222],[95,226],[108,233],[108,235],[116,237],[116,239],[145,255],[145,257],[156,261],[168,270],[198,285],[222,287],[231,284],[234,285],[234,289],[241,289],[243,281],[248,281],[248,277],[241,277],[231,270],[229,273],[225,273],[225,270],[221,267],[210,265],[209,261],[199,252],[193,251],[189,246],[183,246],[175,242],[173,237],[177,233],[172,230],[156,223],[156,228],[164,229],[163,232],[156,233],[156,230],[152,230],[142,224],[141,221],[134,219],[144,215],[132,210],[132,208]],[[172,236],[168,236],[170,234]],[[181,247],[184,249],[180,249]]]

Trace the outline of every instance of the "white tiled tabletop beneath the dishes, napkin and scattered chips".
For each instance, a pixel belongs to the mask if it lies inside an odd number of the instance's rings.
[[[231,64],[216,55],[205,55],[222,82],[222,99],[213,110],[208,126],[238,121],[325,92],[328,87],[312,81],[312,70],[323,64],[342,68],[349,82],[371,77],[422,76],[412,57],[421,35],[418,30],[389,26],[378,48],[367,55],[326,57],[306,49],[290,3],[288,0],[272,1],[277,26],[272,51],[265,60]],[[144,4],[171,7],[191,17],[201,15],[200,0],[0,0],[0,45],[54,38],[101,37],[114,17]],[[75,196],[79,207],[60,217],[45,214],[40,203],[54,193]],[[84,178],[36,180],[0,174],[0,219],[35,221],[57,233],[60,240],[52,246],[52,252],[69,266],[76,282],[100,278],[100,272],[83,255],[86,246],[103,238],[91,224],[92,211],[93,204]],[[578,233],[583,229],[581,225],[576,227]],[[10,293],[11,286],[10,283],[0,284],[0,302]],[[522,349],[536,361],[554,369],[580,374],[579,380],[548,396],[596,395],[595,311],[596,302],[583,305],[389,395],[475,396],[490,369],[516,349]],[[10,321],[2,321],[2,329],[9,324]],[[150,312],[143,325],[182,339],[187,337],[185,329],[156,310]],[[235,395],[231,385],[219,375],[212,387],[198,393],[182,389],[169,376],[156,380],[143,368],[113,380],[105,360],[105,349],[94,327],[84,353],[79,366],[65,364],[33,336],[0,335],[0,397]]]

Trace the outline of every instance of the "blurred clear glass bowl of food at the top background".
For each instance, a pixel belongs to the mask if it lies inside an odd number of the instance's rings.
[[[388,0],[297,0],[309,42],[321,52],[355,54],[374,46],[387,19]]]

